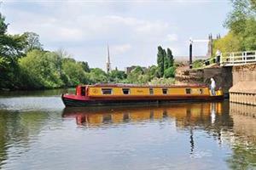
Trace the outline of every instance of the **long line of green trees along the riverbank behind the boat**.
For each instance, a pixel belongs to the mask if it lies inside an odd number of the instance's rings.
[[[128,73],[116,68],[107,74],[100,68],[90,68],[85,61],[73,59],[63,49],[44,50],[34,32],[10,35],[7,30],[8,24],[0,13],[0,89],[64,88],[97,82],[158,83],[161,77],[175,75],[170,48],[166,51],[158,47],[158,65],[137,65]]]

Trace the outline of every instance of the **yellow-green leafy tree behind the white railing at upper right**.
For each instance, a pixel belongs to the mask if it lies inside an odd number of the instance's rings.
[[[213,41],[213,54],[256,50],[256,1],[232,0],[232,11],[224,21],[229,32]]]

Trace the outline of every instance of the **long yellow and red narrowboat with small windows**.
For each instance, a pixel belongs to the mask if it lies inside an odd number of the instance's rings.
[[[79,85],[76,94],[62,94],[66,106],[160,104],[224,99],[221,89],[212,95],[206,85],[139,86],[128,84]]]

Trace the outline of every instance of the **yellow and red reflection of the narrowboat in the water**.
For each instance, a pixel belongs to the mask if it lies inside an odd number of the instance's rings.
[[[73,117],[78,125],[100,126],[106,123],[143,122],[174,118],[178,127],[216,122],[222,103],[171,104],[140,107],[65,108],[63,117]]]

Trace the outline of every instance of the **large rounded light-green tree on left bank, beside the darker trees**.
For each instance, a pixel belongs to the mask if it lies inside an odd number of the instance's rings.
[[[21,88],[59,88],[63,86],[57,56],[33,49],[19,60]]]

